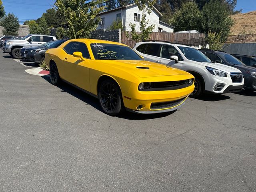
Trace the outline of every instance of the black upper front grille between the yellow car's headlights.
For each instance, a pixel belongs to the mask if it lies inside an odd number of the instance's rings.
[[[182,89],[188,86],[191,86],[194,82],[189,83],[189,80],[180,80],[180,81],[164,81],[164,82],[151,82],[150,88],[141,90],[141,91],[166,91],[166,90],[177,90]]]

